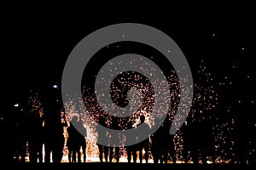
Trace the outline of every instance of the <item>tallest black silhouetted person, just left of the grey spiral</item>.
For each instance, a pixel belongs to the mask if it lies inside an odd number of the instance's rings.
[[[57,89],[49,89],[44,92],[42,104],[44,108],[44,162],[50,162],[50,155],[52,155],[52,162],[61,162],[63,156],[64,126],[66,123],[61,122],[61,111],[63,105],[61,102],[61,94]]]

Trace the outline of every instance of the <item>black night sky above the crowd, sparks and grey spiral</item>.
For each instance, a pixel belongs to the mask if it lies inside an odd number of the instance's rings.
[[[61,86],[62,70],[75,45],[103,26],[123,22],[164,31],[177,42],[192,70],[201,59],[207,61],[216,83],[232,77],[231,88],[218,89],[223,100],[255,99],[255,26],[250,4],[209,3],[197,8],[153,4],[148,8],[147,3],[131,8],[136,6],[3,5],[1,110],[24,102],[32,88]],[[232,70],[232,65],[238,65],[237,69]]]

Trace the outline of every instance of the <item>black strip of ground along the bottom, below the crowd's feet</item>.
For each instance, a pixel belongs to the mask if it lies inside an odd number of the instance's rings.
[[[23,168],[40,168],[40,169],[46,169],[46,168],[58,168],[58,169],[157,169],[157,170],[164,170],[164,169],[172,169],[172,170],[181,170],[181,169],[209,169],[209,170],[223,170],[223,169],[255,169],[254,165],[229,165],[229,164],[153,164],[153,163],[125,163],[125,162],[119,162],[119,163],[98,163],[98,162],[87,162],[87,163],[18,163],[13,164],[10,167],[21,167]],[[9,169],[9,166],[5,166],[6,169]]]

